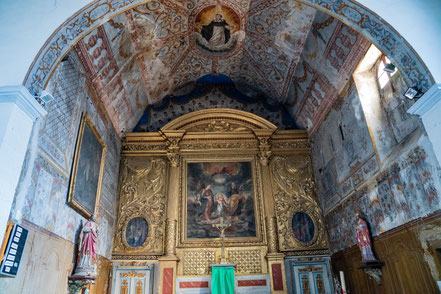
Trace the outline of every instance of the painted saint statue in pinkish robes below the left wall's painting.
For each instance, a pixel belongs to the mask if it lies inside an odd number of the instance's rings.
[[[96,220],[96,215],[92,215],[81,229],[75,276],[96,276],[98,242],[98,224]]]

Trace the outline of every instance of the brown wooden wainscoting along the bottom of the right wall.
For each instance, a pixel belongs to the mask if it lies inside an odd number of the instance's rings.
[[[332,255],[333,273],[345,274],[351,294],[440,293],[441,212],[417,219],[374,238],[374,251],[384,262],[382,285],[363,270],[360,250],[353,246]]]

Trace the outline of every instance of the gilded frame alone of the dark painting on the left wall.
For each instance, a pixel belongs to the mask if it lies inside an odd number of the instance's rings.
[[[81,153],[81,148],[82,148],[82,143],[83,143],[83,136],[84,136],[84,129],[86,128],[86,126],[92,131],[92,134],[94,135],[95,139],[98,141],[98,143],[102,147],[97,191],[95,194],[95,206],[94,206],[93,211],[89,211],[86,207],[84,207],[83,204],[81,204],[77,199],[74,198],[74,192],[75,192],[76,184],[77,184],[78,161],[80,158],[80,153]],[[68,203],[73,209],[78,211],[85,218],[90,218],[92,216],[92,214],[95,214],[98,212],[98,206],[99,206],[100,196],[101,196],[101,185],[102,185],[102,179],[103,179],[104,162],[105,162],[105,158],[106,158],[106,151],[107,151],[107,146],[104,143],[104,141],[101,138],[98,131],[96,130],[95,126],[93,125],[89,115],[87,113],[83,113],[81,116],[81,123],[80,123],[80,128],[78,131],[78,137],[77,137],[77,142],[76,142],[76,147],[75,147],[75,155],[74,155],[74,159],[73,159],[72,173],[71,173],[70,183],[69,183]]]

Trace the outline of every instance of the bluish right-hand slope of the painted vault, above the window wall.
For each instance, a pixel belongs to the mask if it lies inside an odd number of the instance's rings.
[[[369,44],[337,19],[316,13],[286,100],[298,125],[309,134],[317,131]]]

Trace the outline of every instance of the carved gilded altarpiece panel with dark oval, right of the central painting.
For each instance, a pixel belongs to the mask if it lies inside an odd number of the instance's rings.
[[[280,250],[326,248],[309,156],[275,156],[271,172]]]

